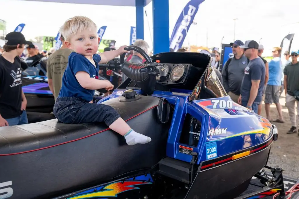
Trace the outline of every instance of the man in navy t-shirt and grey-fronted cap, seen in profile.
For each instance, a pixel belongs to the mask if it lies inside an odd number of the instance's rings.
[[[245,45],[240,48],[244,49],[244,54],[250,61],[244,70],[238,103],[257,113],[265,83],[265,64],[257,55],[259,44],[256,41],[245,41]]]

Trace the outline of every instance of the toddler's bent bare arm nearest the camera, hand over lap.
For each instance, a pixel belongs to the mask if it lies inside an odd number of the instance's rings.
[[[89,74],[84,71],[77,72],[75,76],[79,84],[85,89],[97,90],[102,88],[110,88],[111,86],[113,87],[110,81],[91,78]]]

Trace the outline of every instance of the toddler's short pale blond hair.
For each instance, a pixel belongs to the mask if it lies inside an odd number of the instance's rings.
[[[65,41],[69,41],[78,31],[83,30],[97,31],[97,25],[88,17],[74,16],[64,22],[59,32],[63,35]]]

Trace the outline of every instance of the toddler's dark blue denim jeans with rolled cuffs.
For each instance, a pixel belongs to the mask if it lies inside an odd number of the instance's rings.
[[[105,122],[110,126],[120,118],[118,112],[106,104],[89,103],[76,97],[57,98],[53,113],[65,124]]]

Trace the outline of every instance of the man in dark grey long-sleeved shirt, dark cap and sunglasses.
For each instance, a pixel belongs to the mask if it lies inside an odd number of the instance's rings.
[[[233,48],[234,57],[225,62],[222,69],[222,84],[225,91],[234,102],[238,102],[244,70],[248,64],[248,58],[244,50],[240,48],[244,43],[236,40],[230,44]]]

